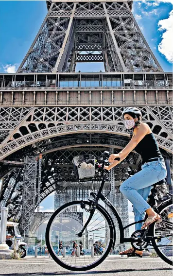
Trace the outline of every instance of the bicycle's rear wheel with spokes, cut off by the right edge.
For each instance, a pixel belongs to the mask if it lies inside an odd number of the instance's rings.
[[[162,222],[153,224],[154,236],[160,238],[153,241],[153,247],[161,259],[173,265],[173,201],[164,202],[158,207]],[[167,236],[168,237],[163,237]],[[163,238],[162,238],[163,237]]]

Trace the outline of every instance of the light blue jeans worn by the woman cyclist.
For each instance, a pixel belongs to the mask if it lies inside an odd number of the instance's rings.
[[[145,211],[151,206],[147,203],[151,189],[156,182],[167,175],[164,160],[148,162],[142,165],[142,170],[125,180],[120,191],[133,204],[135,222],[144,220]],[[140,230],[143,223],[135,224],[135,230]]]

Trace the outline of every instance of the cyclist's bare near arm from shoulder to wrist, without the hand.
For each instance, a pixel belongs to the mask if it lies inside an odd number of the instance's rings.
[[[142,123],[140,128],[137,129],[137,134],[131,139],[131,141],[126,145],[126,147],[119,153],[121,158],[122,155],[129,154],[138,145],[138,143],[145,137],[149,131],[149,126]]]

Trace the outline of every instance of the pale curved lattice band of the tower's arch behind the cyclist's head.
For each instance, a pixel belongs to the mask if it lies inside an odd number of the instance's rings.
[[[129,131],[122,125],[104,122],[75,122],[68,125],[53,126],[50,128],[42,129],[23,137],[12,140],[7,145],[0,147],[0,160],[8,155],[16,152],[17,150],[47,138],[56,136],[75,134],[75,133],[112,133],[117,135],[129,136]],[[166,138],[155,135],[160,148],[172,152],[172,141]]]

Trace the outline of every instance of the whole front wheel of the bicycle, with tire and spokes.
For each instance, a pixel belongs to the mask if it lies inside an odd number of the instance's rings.
[[[90,215],[90,206],[88,201],[69,202],[53,213],[46,228],[46,244],[52,259],[72,271],[96,267],[112,248],[113,225],[100,205],[97,205],[82,237],[78,237]],[[58,254],[61,241],[63,250]]]

